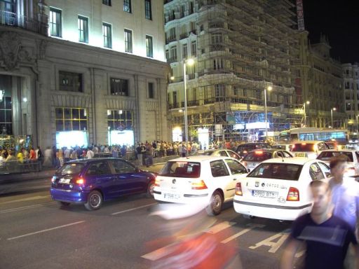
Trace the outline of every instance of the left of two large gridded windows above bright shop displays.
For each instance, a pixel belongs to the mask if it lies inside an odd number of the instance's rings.
[[[86,109],[57,107],[55,122],[56,132],[88,130]]]

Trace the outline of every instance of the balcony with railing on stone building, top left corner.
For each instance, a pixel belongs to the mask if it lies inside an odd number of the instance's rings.
[[[0,25],[20,27],[45,36],[48,35],[48,25],[46,23],[8,11],[0,11]]]

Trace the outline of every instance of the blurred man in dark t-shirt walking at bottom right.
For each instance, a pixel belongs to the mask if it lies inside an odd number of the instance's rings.
[[[352,243],[359,268],[358,242],[351,226],[332,215],[333,207],[329,185],[312,181],[313,209],[311,214],[300,216],[292,225],[290,240],[283,253],[281,269],[292,268],[294,255],[302,242],[306,243],[304,268],[342,269],[348,245]],[[353,268],[354,269],[354,268]]]

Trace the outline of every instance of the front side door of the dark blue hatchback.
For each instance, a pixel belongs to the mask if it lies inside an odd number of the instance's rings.
[[[117,195],[139,193],[147,188],[147,178],[144,174],[136,172],[135,166],[125,160],[110,160],[114,170]]]

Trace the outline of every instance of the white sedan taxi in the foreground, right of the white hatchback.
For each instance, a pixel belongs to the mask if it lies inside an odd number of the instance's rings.
[[[309,184],[330,177],[330,168],[309,158],[273,158],[258,165],[236,185],[233,206],[246,218],[293,221],[311,212]]]

